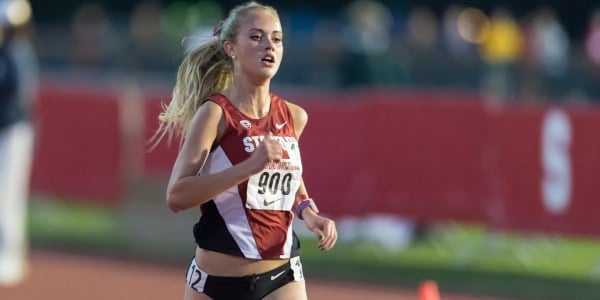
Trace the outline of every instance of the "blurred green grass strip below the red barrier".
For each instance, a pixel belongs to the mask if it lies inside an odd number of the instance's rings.
[[[189,247],[164,247],[159,237],[154,245],[133,247],[122,218],[107,208],[34,202],[32,245],[163,262],[189,257]],[[600,299],[595,240],[441,224],[401,250],[359,241],[324,253],[310,238],[302,245],[305,271],[313,276],[407,287],[433,279],[441,290],[511,299]]]

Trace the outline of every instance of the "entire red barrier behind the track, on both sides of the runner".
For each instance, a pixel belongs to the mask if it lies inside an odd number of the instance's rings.
[[[490,108],[478,95],[455,92],[280,94],[309,114],[300,143],[304,179],[329,216],[389,213],[600,235],[599,107]],[[129,105],[126,115],[118,95],[97,86],[42,89],[34,191],[114,203],[124,166],[138,167],[124,161],[135,157],[142,176],[166,185],[179,140],[153,151],[133,144],[156,131],[168,91],[146,91],[144,111]],[[136,114],[143,128],[128,131]]]

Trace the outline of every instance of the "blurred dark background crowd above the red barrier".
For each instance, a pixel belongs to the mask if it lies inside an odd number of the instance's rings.
[[[41,1],[45,72],[172,80],[236,1]],[[481,90],[505,101],[600,99],[594,1],[263,1],[280,12],[275,83]]]

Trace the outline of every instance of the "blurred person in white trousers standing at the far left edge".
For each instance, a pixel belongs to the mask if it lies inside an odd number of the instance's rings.
[[[33,148],[29,122],[37,65],[26,0],[0,0],[0,285],[26,271],[26,207]]]

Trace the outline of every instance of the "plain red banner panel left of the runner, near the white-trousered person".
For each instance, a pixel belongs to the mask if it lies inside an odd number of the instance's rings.
[[[38,102],[32,191],[103,203],[120,200],[117,94],[53,83],[42,86]]]

